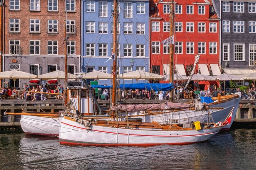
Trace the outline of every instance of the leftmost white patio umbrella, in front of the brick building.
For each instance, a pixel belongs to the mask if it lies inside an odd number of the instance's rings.
[[[37,75],[26,73],[18,70],[0,72],[0,79],[13,79],[14,87],[16,79],[35,79]]]

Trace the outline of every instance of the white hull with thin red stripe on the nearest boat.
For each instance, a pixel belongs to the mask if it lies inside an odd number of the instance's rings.
[[[222,127],[202,130],[156,130],[92,125],[91,128],[92,130],[88,130],[75,121],[61,117],[60,143],[89,146],[184,145],[207,141]]]

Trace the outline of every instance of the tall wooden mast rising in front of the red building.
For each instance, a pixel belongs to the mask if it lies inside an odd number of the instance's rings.
[[[170,4],[170,37],[173,36],[173,0],[171,0]],[[174,41],[173,41],[174,42]],[[173,81],[173,44],[170,43],[170,83],[174,87],[174,81]],[[171,89],[171,102],[174,102],[174,96],[173,96],[174,89]]]

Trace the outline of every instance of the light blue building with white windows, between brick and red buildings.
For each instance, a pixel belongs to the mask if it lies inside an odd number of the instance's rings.
[[[84,73],[98,70],[112,74],[112,60],[106,61],[113,48],[113,6],[112,1],[106,0],[81,3],[81,71]],[[149,71],[148,9],[149,0],[119,1],[117,74]],[[99,80],[101,85],[110,83],[110,79]],[[132,83],[132,80],[121,83]]]

